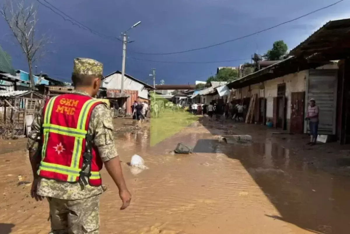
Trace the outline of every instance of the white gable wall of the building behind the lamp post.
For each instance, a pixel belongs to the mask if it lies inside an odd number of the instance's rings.
[[[145,89],[145,86],[137,81],[134,81],[127,76],[124,76],[124,89],[128,90],[137,90],[139,91],[139,97],[148,98],[148,90]],[[107,89],[120,89],[121,87],[121,74],[114,73],[113,75],[109,76],[104,80],[102,83],[103,88]]]

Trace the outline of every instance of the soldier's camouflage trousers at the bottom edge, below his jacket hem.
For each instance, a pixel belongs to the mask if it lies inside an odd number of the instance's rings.
[[[99,195],[80,200],[48,198],[49,234],[98,234]]]

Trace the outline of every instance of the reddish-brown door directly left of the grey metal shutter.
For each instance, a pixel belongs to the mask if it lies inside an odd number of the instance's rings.
[[[304,132],[305,92],[292,92],[290,100],[290,132]]]

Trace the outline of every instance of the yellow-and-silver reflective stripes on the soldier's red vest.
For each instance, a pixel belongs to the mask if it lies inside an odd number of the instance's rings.
[[[41,170],[49,171],[49,172],[57,172],[60,174],[68,175],[68,182],[75,182],[77,180],[77,177],[80,176],[79,172],[81,171],[81,169],[79,168],[79,160],[80,160],[80,156],[82,155],[83,139],[85,139],[87,134],[87,131],[85,130],[87,113],[89,113],[90,108],[95,103],[101,102],[101,101],[96,99],[90,99],[84,103],[82,109],[80,110],[77,128],[74,129],[74,128],[63,127],[63,126],[50,123],[52,106],[57,97],[58,96],[51,98],[48,104],[46,105],[44,118],[43,118],[44,121],[42,125],[43,135],[44,135],[44,141],[43,141],[42,153],[41,153],[42,160],[37,173],[40,174]],[[63,165],[47,163],[43,161],[47,150],[49,132],[75,138],[70,166],[63,166]],[[100,173],[91,171],[91,176],[89,178],[100,179],[101,178]]]

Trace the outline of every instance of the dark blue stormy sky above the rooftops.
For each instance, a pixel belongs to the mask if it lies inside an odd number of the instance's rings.
[[[3,0],[1,0],[3,1]],[[65,21],[34,1],[38,8],[38,33],[47,33],[52,43],[49,53],[36,64],[38,71],[70,81],[73,58],[91,57],[103,62],[104,73],[121,69],[121,42],[91,34]],[[40,0],[45,4],[43,0]],[[130,30],[127,49],[144,53],[167,53],[204,47],[234,39],[332,4],[336,0],[47,0],[52,5],[104,35],[120,36]],[[28,0],[28,2],[30,2]],[[175,55],[141,55],[127,51],[126,73],[152,83],[148,74],[156,68],[156,82],[165,84],[205,81],[219,66],[238,66],[242,61],[179,64],[156,61],[226,61],[249,59],[258,51],[263,54],[276,40],[284,40],[294,48],[325,22],[349,18],[350,1],[309,15],[278,28],[224,45]],[[0,19],[0,44],[12,56],[15,69],[27,71],[26,61],[5,21]],[[134,60],[138,58],[141,60]],[[246,60],[250,61],[250,60]]]

